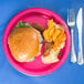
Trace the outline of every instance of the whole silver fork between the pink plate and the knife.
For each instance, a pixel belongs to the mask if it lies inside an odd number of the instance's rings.
[[[75,25],[75,13],[74,9],[69,9],[67,10],[67,24],[71,28],[71,41],[72,41],[72,46],[71,46],[71,62],[75,63],[76,62],[76,54],[74,50],[74,38],[73,38],[73,27]]]

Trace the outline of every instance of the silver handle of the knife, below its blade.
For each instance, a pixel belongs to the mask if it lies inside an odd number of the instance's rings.
[[[78,33],[78,56],[77,64],[83,64],[83,52],[82,52],[82,33]]]

